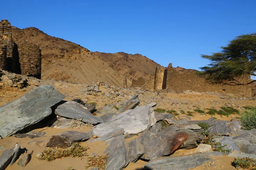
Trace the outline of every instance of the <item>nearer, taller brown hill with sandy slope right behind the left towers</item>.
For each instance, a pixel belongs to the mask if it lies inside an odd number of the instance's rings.
[[[49,36],[34,27],[25,29],[12,27],[12,37],[17,44],[27,40],[40,46],[42,79],[60,79],[85,84],[100,80],[122,86],[122,75],[80,45]]]

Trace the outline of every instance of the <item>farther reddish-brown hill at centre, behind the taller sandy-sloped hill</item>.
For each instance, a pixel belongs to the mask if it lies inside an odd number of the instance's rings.
[[[141,54],[133,55],[124,52],[113,54],[95,52],[94,54],[102,58],[119,74],[128,76],[130,81],[131,79],[138,79],[139,77],[148,79],[151,74],[154,74],[156,66],[160,66]]]

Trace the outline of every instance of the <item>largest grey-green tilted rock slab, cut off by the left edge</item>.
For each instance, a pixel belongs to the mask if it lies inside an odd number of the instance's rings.
[[[0,136],[11,136],[52,113],[51,107],[65,96],[51,85],[41,85],[0,107]]]

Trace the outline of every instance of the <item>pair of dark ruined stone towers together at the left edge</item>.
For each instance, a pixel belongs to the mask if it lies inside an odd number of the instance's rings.
[[[12,26],[8,20],[0,22],[0,68],[16,74],[41,79],[41,50],[39,45],[12,40]]]

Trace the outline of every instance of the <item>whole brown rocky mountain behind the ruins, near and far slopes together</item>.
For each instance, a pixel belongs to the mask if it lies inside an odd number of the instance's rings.
[[[122,87],[124,76],[128,76],[128,84],[134,78],[148,79],[158,65],[140,54],[91,52],[73,42],[49,36],[35,27],[12,27],[12,37],[17,44],[27,40],[40,46],[42,79],[81,84],[103,81]]]

